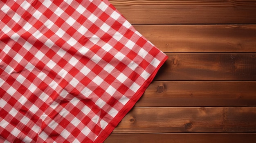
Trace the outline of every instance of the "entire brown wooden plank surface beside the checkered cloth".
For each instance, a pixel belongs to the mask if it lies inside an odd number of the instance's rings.
[[[110,0],[168,55],[104,143],[255,143],[256,0]]]

